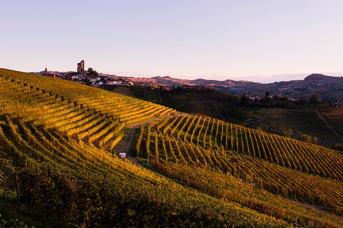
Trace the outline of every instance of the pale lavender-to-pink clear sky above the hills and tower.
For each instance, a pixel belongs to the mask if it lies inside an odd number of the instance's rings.
[[[343,75],[343,1],[0,0],[0,67],[270,83]]]

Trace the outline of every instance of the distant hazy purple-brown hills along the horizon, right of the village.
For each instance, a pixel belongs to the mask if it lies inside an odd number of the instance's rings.
[[[179,79],[171,77],[152,77],[151,79],[135,79],[133,81],[152,80],[155,84],[166,86],[182,85],[209,85],[217,91],[227,92],[230,94],[240,95],[259,95],[263,96],[269,91],[272,95],[298,96],[307,98],[311,93],[319,93],[323,101],[342,101],[343,100],[343,77],[326,76],[322,74],[311,74],[304,80],[280,81],[268,84],[256,83],[252,81],[236,81],[226,79],[224,81],[206,80],[206,79]]]

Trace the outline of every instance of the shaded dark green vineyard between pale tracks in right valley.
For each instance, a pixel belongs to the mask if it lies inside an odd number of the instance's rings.
[[[293,137],[300,139],[306,134],[312,137],[317,137],[318,140],[331,143],[340,143],[342,140],[337,136],[332,129],[318,116],[316,111],[292,111],[282,109],[270,109],[267,117],[262,122],[252,126],[256,129],[260,127],[263,131],[282,135],[283,131],[291,130]],[[325,142],[318,143],[324,145]]]

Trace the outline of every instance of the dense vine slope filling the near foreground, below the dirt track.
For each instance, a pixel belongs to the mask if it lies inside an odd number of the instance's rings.
[[[282,220],[184,188],[52,129],[21,121],[13,125],[7,118],[6,125],[0,125],[0,142],[8,188],[17,185],[20,190],[19,210],[44,208],[45,223],[288,227]],[[30,216],[39,219],[37,214]]]

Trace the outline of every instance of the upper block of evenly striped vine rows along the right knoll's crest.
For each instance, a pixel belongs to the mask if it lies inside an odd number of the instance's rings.
[[[343,180],[343,157],[332,149],[210,117],[186,115],[169,122],[158,133],[205,150],[230,150],[305,173]]]

